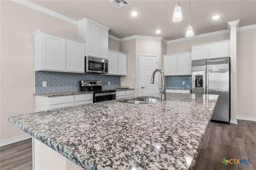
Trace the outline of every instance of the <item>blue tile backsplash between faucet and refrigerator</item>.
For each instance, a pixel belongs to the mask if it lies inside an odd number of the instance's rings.
[[[182,85],[182,81],[185,81],[185,85]],[[191,88],[192,76],[191,75],[166,76],[166,87]]]

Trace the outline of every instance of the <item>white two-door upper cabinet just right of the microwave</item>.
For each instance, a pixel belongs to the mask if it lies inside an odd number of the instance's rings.
[[[120,51],[108,49],[108,74],[127,75],[127,55]]]

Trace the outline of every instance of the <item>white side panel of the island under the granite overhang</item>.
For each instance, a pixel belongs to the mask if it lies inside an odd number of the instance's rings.
[[[34,170],[84,170],[36,138],[33,145]]]

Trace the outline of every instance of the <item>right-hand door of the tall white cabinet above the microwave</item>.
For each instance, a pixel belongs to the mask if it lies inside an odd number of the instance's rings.
[[[99,57],[108,59],[108,30],[98,27],[99,29]]]

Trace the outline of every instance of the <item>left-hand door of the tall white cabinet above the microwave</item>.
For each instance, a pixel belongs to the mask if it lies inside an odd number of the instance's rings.
[[[98,26],[88,22],[88,34],[87,34],[87,55],[98,57],[99,55],[99,35]]]

